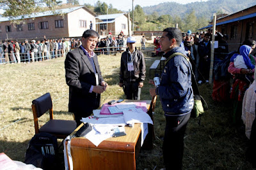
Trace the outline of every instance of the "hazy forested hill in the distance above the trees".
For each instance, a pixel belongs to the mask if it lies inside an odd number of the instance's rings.
[[[160,15],[169,14],[172,17],[185,16],[191,10],[195,10],[196,17],[212,16],[213,13],[227,13],[228,15],[237,11],[255,6],[255,0],[209,0],[189,4],[161,3],[143,8],[146,15],[157,12]]]

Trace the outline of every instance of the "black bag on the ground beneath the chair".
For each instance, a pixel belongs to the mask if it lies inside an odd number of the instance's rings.
[[[40,132],[29,141],[24,163],[33,164],[42,169],[58,169],[57,152],[56,136],[47,132]]]

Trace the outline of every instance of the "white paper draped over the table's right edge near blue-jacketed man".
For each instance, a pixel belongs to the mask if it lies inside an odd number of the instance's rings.
[[[145,111],[137,112],[136,110],[125,110],[124,113],[124,121],[126,124],[134,124],[134,123],[148,123],[153,124],[150,116]]]

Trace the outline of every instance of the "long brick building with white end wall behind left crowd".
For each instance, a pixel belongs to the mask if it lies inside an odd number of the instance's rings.
[[[95,28],[97,15],[84,6],[33,13],[24,22],[12,24],[8,18],[0,18],[0,39],[44,39],[81,37],[90,29],[90,21]]]

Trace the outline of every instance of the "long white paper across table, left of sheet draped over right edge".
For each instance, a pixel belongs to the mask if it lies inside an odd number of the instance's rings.
[[[124,122],[124,116],[120,116],[120,117],[108,117],[108,118],[91,118],[91,117],[86,117],[86,118],[82,118],[82,122],[86,123],[90,123],[92,125],[97,124],[97,125],[121,125],[124,126],[125,122]]]

